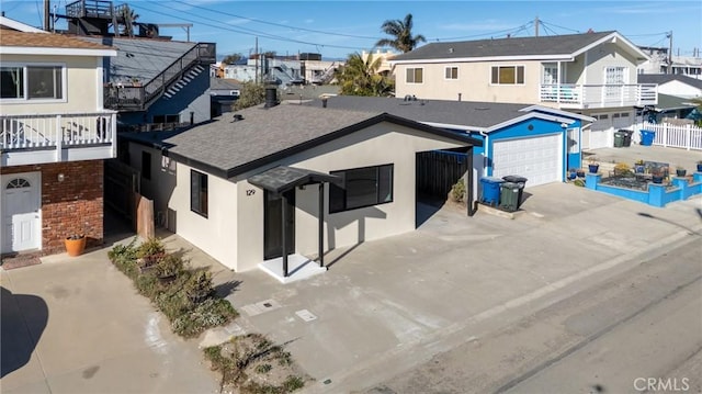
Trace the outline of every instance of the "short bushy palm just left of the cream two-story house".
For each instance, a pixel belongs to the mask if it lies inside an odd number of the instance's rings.
[[[373,55],[363,59],[359,53],[349,55],[346,65],[337,69],[336,78],[341,85],[340,93],[346,95],[388,95],[393,81],[377,72],[382,58]]]

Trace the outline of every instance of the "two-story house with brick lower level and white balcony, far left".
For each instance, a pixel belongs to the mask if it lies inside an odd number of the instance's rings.
[[[0,33],[0,254],[59,252],[75,234],[100,244],[103,165],[116,156],[102,65],[116,52],[18,26]]]

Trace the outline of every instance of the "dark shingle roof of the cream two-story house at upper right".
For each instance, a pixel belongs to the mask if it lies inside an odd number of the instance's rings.
[[[612,33],[615,32],[431,43],[398,55],[392,61],[571,55]]]

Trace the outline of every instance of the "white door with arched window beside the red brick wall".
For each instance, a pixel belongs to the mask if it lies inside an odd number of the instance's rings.
[[[39,173],[13,173],[1,180],[2,252],[41,248]]]

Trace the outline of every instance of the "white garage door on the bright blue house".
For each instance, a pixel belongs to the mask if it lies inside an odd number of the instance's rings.
[[[526,187],[559,182],[563,173],[562,134],[498,140],[492,144],[492,176],[520,176]]]

